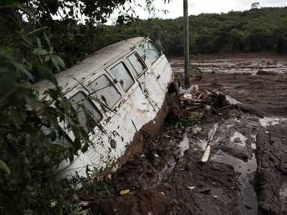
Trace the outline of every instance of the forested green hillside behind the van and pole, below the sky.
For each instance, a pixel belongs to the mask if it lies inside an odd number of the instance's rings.
[[[83,26],[57,21],[51,28],[68,65],[94,50],[135,36],[160,39],[167,55],[183,55],[183,17],[136,19],[116,26]],[[60,34],[59,34],[60,32]],[[59,37],[60,36],[60,37]],[[287,53],[287,8],[253,8],[189,17],[191,54],[221,52]]]

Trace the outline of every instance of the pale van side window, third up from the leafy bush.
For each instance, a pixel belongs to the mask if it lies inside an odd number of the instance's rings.
[[[132,75],[130,75],[128,68],[123,64],[123,62],[116,64],[116,66],[110,69],[110,72],[114,76],[115,81],[119,82],[123,91],[127,92],[132,84],[134,84]]]

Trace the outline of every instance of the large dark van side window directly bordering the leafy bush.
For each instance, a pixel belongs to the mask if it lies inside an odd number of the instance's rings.
[[[93,102],[82,91],[71,96],[69,100],[73,109],[78,113],[78,119],[82,127],[86,131],[93,131],[94,127],[96,127],[96,122],[100,122],[102,119],[101,112],[98,111]]]

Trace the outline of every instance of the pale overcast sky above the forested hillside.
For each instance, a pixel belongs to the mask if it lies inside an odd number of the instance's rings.
[[[167,0],[166,0],[167,1]],[[137,3],[145,5],[146,0],[136,0]],[[252,3],[259,2],[259,7],[284,7],[287,6],[287,0],[188,0],[189,15],[199,15],[201,13],[221,13],[234,11],[250,10]],[[157,9],[168,10],[165,15],[164,12],[157,12],[156,17],[162,19],[175,19],[183,16],[183,0],[170,0],[169,3],[164,4],[164,0],[155,0]],[[143,8],[136,9],[137,15],[140,19],[152,18]]]

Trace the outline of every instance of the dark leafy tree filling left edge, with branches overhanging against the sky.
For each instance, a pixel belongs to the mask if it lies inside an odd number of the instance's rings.
[[[91,23],[105,22],[123,3],[125,0],[1,1],[0,214],[77,214],[73,187],[82,179],[58,180],[53,169],[63,159],[72,161],[79,150],[86,151],[89,137],[55,79],[54,74],[65,64],[55,52],[61,49],[52,43],[57,38],[51,36],[57,31],[61,40],[66,34],[56,28],[61,24],[69,30],[77,28],[77,33],[81,28],[87,30],[74,21],[80,15]],[[53,20],[57,14],[64,22]],[[39,79],[55,86],[43,99],[33,86]],[[62,128],[59,122],[67,126]],[[65,142],[67,131],[75,136],[70,144]]]

